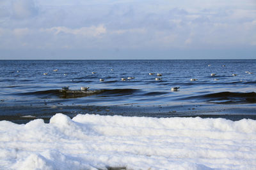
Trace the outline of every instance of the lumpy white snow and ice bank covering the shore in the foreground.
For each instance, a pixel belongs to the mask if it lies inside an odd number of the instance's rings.
[[[255,169],[256,121],[58,113],[49,124],[0,122],[0,169],[109,167]]]

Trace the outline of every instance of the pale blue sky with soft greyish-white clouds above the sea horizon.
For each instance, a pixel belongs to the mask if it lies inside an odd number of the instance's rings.
[[[0,0],[0,59],[256,59],[256,0]]]

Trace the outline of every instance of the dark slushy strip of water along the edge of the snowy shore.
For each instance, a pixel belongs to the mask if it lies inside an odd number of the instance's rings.
[[[225,118],[237,121],[243,118],[256,120],[253,104],[212,105],[186,104],[181,106],[5,106],[0,108],[0,121],[7,120],[16,124],[26,124],[42,118],[49,123],[56,113],[63,113],[70,118],[78,114],[120,115],[123,117],[201,117]]]

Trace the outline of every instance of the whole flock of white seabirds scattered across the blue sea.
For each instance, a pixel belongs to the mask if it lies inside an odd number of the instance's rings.
[[[211,64],[208,65],[209,67],[211,66]],[[225,65],[222,65],[223,67],[225,67]],[[113,71],[114,69],[111,69],[111,71]],[[58,69],[54,69],[52,70],[54,72],[58,71]],[[17,71],[17,73],[20,73],[20,71]],[[248,74],[253,74],[252,72],[250,71],[246,71],[245,73],[248,73]],[[95,72],[92,72],[92,74],[96,74]],[[154,75],[155,73],[148,73],[150,76]],[[44,73],[44,75],[48,75],[48,73]],[[67,76],[67,73],[64,74],[64,76]],[[163,76],[163,74],[161,73],[157,73],[157,77],[155,78],[156,81],[159,81],[159,80],[162,80],[160,77]],[[216,73],[211,73],[211,76],[216,76]],[[237,76],[237,74],[232,74],[232,76]],[[134,79],[135,77],[127,77],[127,78],[121,78],[122,81],[126,81],[126,80],[132,80]],[[191,78],[190,81],[196,81],[198,79],[196,78]],[[214,80],[218,80],[217,78],[215,78]],[[104,81],[103,78],[100,78],[100,81]],[[82,91],[87,91],[90,87],[81,87],[81,90]],[[172,91],[176,92],[180,89],[180,87],[172,87]],[[63,87],[62,90],[64,91],[67,91],[69,90],[68,87]]]

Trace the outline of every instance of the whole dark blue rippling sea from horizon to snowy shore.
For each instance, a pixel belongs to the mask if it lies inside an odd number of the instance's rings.
[[[55,113],[256,119],[255,87],[256,60],[0,60],[0,120],[47,121]]]

